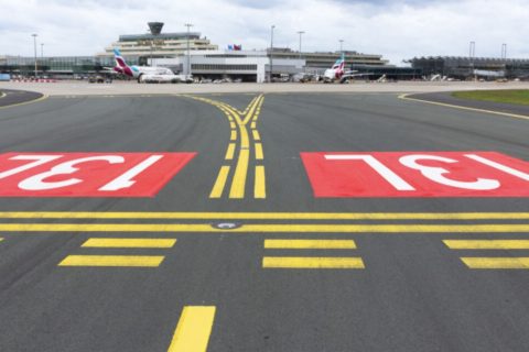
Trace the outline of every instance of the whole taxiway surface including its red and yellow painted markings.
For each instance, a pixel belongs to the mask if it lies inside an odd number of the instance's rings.
[[[1,351],[527,351],[529,122],[397,94],[0,110]]]

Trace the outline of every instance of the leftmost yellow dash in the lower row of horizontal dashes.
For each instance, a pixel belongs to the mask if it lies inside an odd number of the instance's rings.
[[[163,258],[159,255],[68,255],[58,263],[58,266],[158,267]]]

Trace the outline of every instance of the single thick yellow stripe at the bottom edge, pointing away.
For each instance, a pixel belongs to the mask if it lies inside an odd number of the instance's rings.
[[[214,320],[213,306],[184,307],[168,352],[206,352]]]

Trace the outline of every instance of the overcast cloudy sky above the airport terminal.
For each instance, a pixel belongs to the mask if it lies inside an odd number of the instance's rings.
[[[33,56],[32,33],[44,55],[94,55],[120,34],[194,31],[219,47],[270,45],[303,51],[344,50],[381,54],[392,64],[422,55],[529,58],[529,0],[0,0],[0,55]]]

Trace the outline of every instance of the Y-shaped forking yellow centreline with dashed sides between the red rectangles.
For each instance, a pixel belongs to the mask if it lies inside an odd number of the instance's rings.
[[[226,164],[220,166],[216,182],[209,194],[209,198],[223,197],[230,176],[231,185],[229,187],[228,197],[231,199],[245,198],[248,169],[250,166],[250,161],[252,161],[251,150],[253,150],[253,161],[256,164],[253,198],[266,198],[267,191],[264,166],[261,165],[262,161],[264,160],[264,153],[262,151],[261,136],[257,130],[257,121],[264,101],[264,95],[261,94],[255,97],[244,111],[237,110],[226,102],[216,101],[204,97],[187,97],[209,103],[222,110],[228,119],[230,127],[229,144],[224,157]],[[250,125],[251,139],[248,131],[248,125]]]

